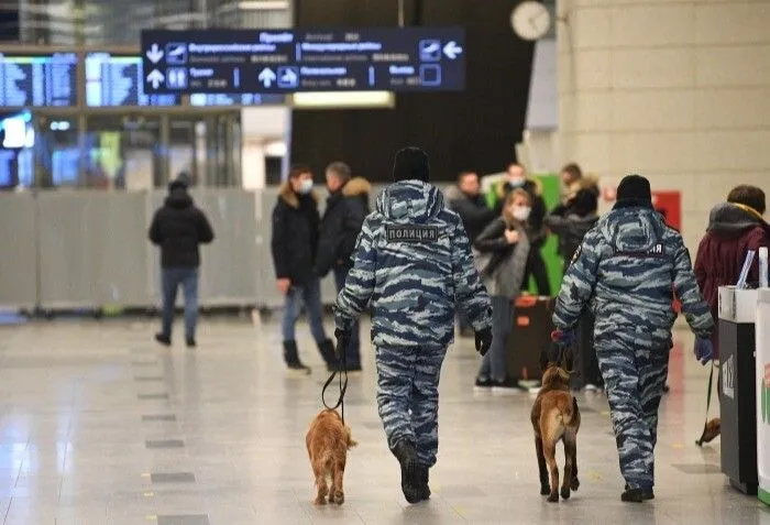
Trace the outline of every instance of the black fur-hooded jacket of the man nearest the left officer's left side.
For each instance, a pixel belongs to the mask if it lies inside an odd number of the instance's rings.
[[[316,255],[316,274],[324,276],[333,266],[348,270],[361,226],[369,215],[369,194],[372,185],[362,177],[348,181],[327,199],[321,220],[321,232]]]

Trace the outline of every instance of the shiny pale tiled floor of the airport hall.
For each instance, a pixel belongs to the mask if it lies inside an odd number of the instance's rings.
[[[277,327],[206,320],[200,348],[150,342],[154,324],[51,322],[0,329],[0,523],[35,524],[770,524],[729,489],[718,441],[698,449],[706,370],[675,351],[661,409],[657,500],[619,502],[603,395],[581,395],[582,486],[558,505],[539,495],[532,397],[474,394],[477,359],[455,346],[441,384],[435,496],[408,506],[374,404],[372,352],[351,379],[346,503],[310,504],[305,451],[326,373],[289,378]],[[686,346],[690,336],[679,338]],[[685,359],[683,359],[685,358]]]

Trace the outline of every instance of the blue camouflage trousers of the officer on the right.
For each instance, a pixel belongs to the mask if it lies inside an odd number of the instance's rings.
[[[669,350],[634,348],[623,337],[597,342],[615,430],[620,472],[631,489],[654,485],[658,407],[668,375]]]

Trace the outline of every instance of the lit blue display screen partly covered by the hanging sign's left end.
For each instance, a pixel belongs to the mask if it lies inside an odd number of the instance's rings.
[[[142,81],[142,59],[136,55],[86,55],[86,106],[178,106],[180,96],[147,95]]]

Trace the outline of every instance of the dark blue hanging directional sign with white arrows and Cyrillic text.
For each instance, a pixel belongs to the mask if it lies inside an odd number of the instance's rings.
[[[147,94],[460,91],[460,28],[142,31]]]

